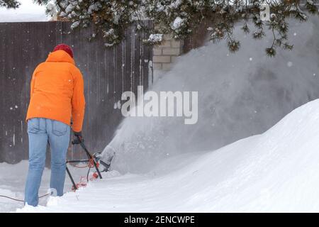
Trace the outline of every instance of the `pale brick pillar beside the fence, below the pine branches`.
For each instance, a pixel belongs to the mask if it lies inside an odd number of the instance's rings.
[[[153,49],[154,70],[169,70],[182,52],[182,40],[174,40],[172,35],[164,35],[164,39],[162,45]]]

